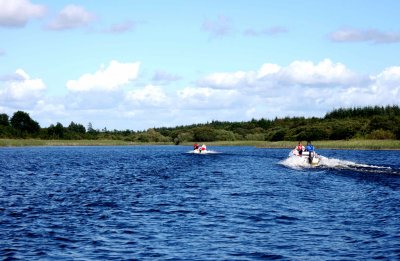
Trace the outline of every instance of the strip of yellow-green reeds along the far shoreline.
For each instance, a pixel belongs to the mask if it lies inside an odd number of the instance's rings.
[[[218,141],[206,142],[207,146],[254,146],[257,148],[294,148],[295,141]],[[324,140],[313,142],[316,149],[365,149],[400,150],[400,140]],[[122,140],[40,140],[40,139],[0,139],[0,147],[28,146],[135,146],[173,145],[172,142],[141,143]],[[186,142],[181,145],[192,146]]]

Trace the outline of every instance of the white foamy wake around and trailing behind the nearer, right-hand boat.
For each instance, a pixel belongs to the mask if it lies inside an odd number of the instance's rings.
[[[318,166],[312,166],[305,164],[304,161],[299,160],[296,157],[288,157],[280,162],[281,165],[291,169],[336,169],[336,170],[351,170],[356,172],[368,172],[368,173],[385,173],[400,175],[400,170],[393,169],[391,167],[376,166],[368,164],[360,164],[353,161],[341,160],[335,158],[321,157],[321,161]]]

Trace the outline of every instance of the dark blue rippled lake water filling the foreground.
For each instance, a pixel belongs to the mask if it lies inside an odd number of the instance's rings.
[[[1,258],[400,259],[399,151],[189,149],[1,148]]]

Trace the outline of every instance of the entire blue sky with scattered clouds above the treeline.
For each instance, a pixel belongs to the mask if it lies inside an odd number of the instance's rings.
[[[0,0],[0,113],[151,127],[398,105],[400,1]]]

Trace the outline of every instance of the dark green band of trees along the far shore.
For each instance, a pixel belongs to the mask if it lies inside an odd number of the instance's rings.
[[[146,131],[102,130],[71,122],[41,128],[26,112],[18,111],[10,118],[0,114],[0,138],[39,139],[112,139],[132,142],[206,142],[206,141],[297,141],[400,139],[400,108],[357,107],[333,110],[323,118],[285,117],[252,119],[248,122],[212,121],[205,124],[152,128]]]

